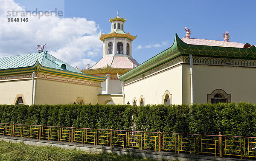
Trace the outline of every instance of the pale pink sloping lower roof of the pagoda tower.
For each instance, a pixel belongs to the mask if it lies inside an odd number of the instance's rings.
[[[99,60],[95,65],[93,65],[90,69],[99,69],[106,66],[106,64],[112,68],[127,68],[133,69],[133,65],[137,67],[139,65],[133,58],[128,58],[127,56],[105,56]]]

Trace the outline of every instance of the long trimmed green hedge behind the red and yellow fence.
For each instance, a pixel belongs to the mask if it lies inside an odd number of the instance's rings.
[[[256,105],[0,105],[0,122],[116,130],[256,136]]]

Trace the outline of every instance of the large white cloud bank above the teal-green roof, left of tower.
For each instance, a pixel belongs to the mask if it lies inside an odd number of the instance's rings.
[[[0,57],[37,52],[36,45],[58,59],[85,69],[96,62],[90,58],[102,53],[100,28],[86,18],[55,16],[24,17],[28,22],[8,22],[7,11],[25,11],[13,0],[0,0]],[[13,17],[15,18],[15,17]]]

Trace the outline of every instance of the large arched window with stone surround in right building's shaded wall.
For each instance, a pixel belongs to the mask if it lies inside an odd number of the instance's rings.
[[[213,90],[211,94],[207,94],[207,102],[208,103],[230,103],[231,102],[231,95],[227,94],[224,90],[222,89],[216,89]]]

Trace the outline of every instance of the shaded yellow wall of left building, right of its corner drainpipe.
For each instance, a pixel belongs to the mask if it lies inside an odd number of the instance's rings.
[[[85,104],[94,105],[98,103],[98,94],[101,87],[37,79],[35,104],[73,104],[77,97],[82,97]]]

